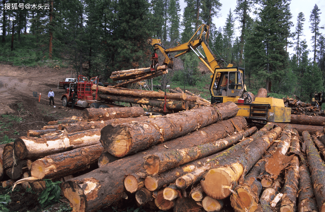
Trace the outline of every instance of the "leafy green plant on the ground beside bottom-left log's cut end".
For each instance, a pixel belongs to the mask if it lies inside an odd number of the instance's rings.
[[[44,180],[46,188],[43,190],[41,195],[38,197],[40,204],[52,205],[59,201],[61,187],[61,181],[52,182],[51,180]]]

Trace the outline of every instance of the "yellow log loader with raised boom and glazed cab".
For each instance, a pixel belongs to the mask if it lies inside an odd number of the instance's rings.
[[[237,116],[243,116],[250,122],[290,122],[291,108],[284,107],[282,99],[255,98],[252,101],[252,97],[246,91],[244,69],[233,67],[232,64],[223,67],[225,61],[217,59],[206,42],[208,30],[209,26],[202,24],[188,42],[171,48],[163,47],[160,39],[149,39],[148,44],[153,46],[154,51],[151,69],[158,66],[157,50],[164,56],[162,65],[169,68],[173,68],[174,58],[193,51],[212,73],[209,89],[211,104],[234,102],[240,108]],[[205,56],[197,49],[199,46],[202,47]],[[172,57],[170,53],[173,52],[180,53]]]

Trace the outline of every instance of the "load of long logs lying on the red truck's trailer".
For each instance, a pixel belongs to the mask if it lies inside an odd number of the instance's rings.
[[[207,106],[210,102],[191,92],[164,93],[146,90],[102,87],[93,85],[92,91],[98,91],[97,99],[126,102],[150,107],[155,112],[177,112],[198,106]],[[96,95],[95,93],[93,94]]]

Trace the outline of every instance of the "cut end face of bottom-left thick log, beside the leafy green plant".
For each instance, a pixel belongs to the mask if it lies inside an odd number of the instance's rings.
[[[77,183],[66,181],[61,189],[63,195],[69,200],[72,211],[86,211],[86,196]]]

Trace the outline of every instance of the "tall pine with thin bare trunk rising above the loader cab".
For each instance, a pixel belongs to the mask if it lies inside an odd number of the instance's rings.
[[[243,51],[244,51],[244,40],[246,37],[246,23],[251,17],[249,16],[249,13],[251,12],[251,8],[253,7],[253,1],[252,0],[237,0],[237,5],[235,9],[235,13],[237,15],[237,18],[240,21],[239,29],[240,31],[240,55],[239,55],[239,65],[242,64],[242,58],[243,58]]]

